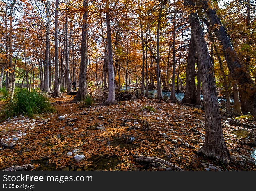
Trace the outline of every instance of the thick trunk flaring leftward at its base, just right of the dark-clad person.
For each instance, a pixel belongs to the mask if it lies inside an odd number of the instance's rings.
[[[86,99],[87,95],[87,36],[88,36],[88,0],[83,0],[83,26],[82,26],[82,44],[81,44],[81,63],[79,73],[78,91],[72,102]]]

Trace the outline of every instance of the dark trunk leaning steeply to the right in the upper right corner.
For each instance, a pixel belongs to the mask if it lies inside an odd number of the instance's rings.
[[[250,78],[246,68],[244,67],[243,61],[239,59],[236,51],[231,43],[231,39],[227,35],[220,18],[216,14],[216,11],[211,7],[209,0],[200,0],[207,16],[210,19],[214,32],[223,45],[223,52],[225,60],[227,62],[228,69],[230,71],[231,80],[238,82],[241,97],[246,97],[246,106],[253,114],[256,120],[256,85],[255,82]]]

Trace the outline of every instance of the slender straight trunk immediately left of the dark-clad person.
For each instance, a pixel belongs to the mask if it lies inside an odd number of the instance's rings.
[[[67,0],[68,4],[69,0]],[[68,6],[66,6],[66,9],[68,9]],[[66,82],[67,82],[67,94],[72,92],[71,87],[71,80],[70,80],[70,72],[69,72],[69,47],[68,47],[68,18],[67,18],[67,12],[66,12],[66,23],[65,23],[65,37],[66,37]]]

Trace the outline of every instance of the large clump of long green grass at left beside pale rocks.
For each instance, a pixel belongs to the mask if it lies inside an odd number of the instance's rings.
[[[34,114],[54,111],[54,108],[43,94],[23,89],[16,93],[13,102],[8,103],[5,110],[6,117],[23,114],[33,117]]]

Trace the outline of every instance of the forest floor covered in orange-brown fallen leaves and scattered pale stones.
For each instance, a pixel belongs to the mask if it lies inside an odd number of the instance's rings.
[[[0,138],[9,139],[8,143],[16,141],[13,149],[0,150],[0,169],[24,164],[34,164],[35,170],[169,169],[161,163],[137,162],[133,155],[161,158],[183,170],[256,169],[250,159],[256,147],[248,145],[255,141],[255,129],[223,128],[234,159],[224,165],[195,154],[204,142],[204,136],[193,130],[205,134],[203,110],[146,98],[104,107],[95,103],[84,108],[81,102],[71,103],[72,99],[70,96],[50,98],[56,113],[2,121]],[[147,106],[155,111],[148,111]],[[65,119],[59,120],[59,116]],[[66,123],[75,118],[77,120]],[[224,122],[224,116],[222,118]],[[48,119],[47,124],[43,124],[44,119]],[[247,118],[239,120],[247,121]],[[146,121],[150,128],[145,127]],[[67,124],[70,126],[65,126]],[[74,160],[75,153],[66,156],[74,149],[80,149],[77,154],[85,156],[80,162]]]

